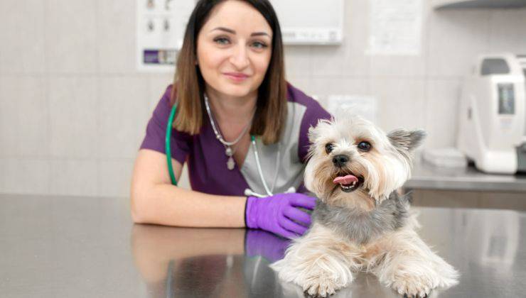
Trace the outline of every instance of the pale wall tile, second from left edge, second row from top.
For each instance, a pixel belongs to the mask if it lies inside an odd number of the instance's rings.
[[[97,77],[48,79],[50,155],[55,158],[97,156]]]

